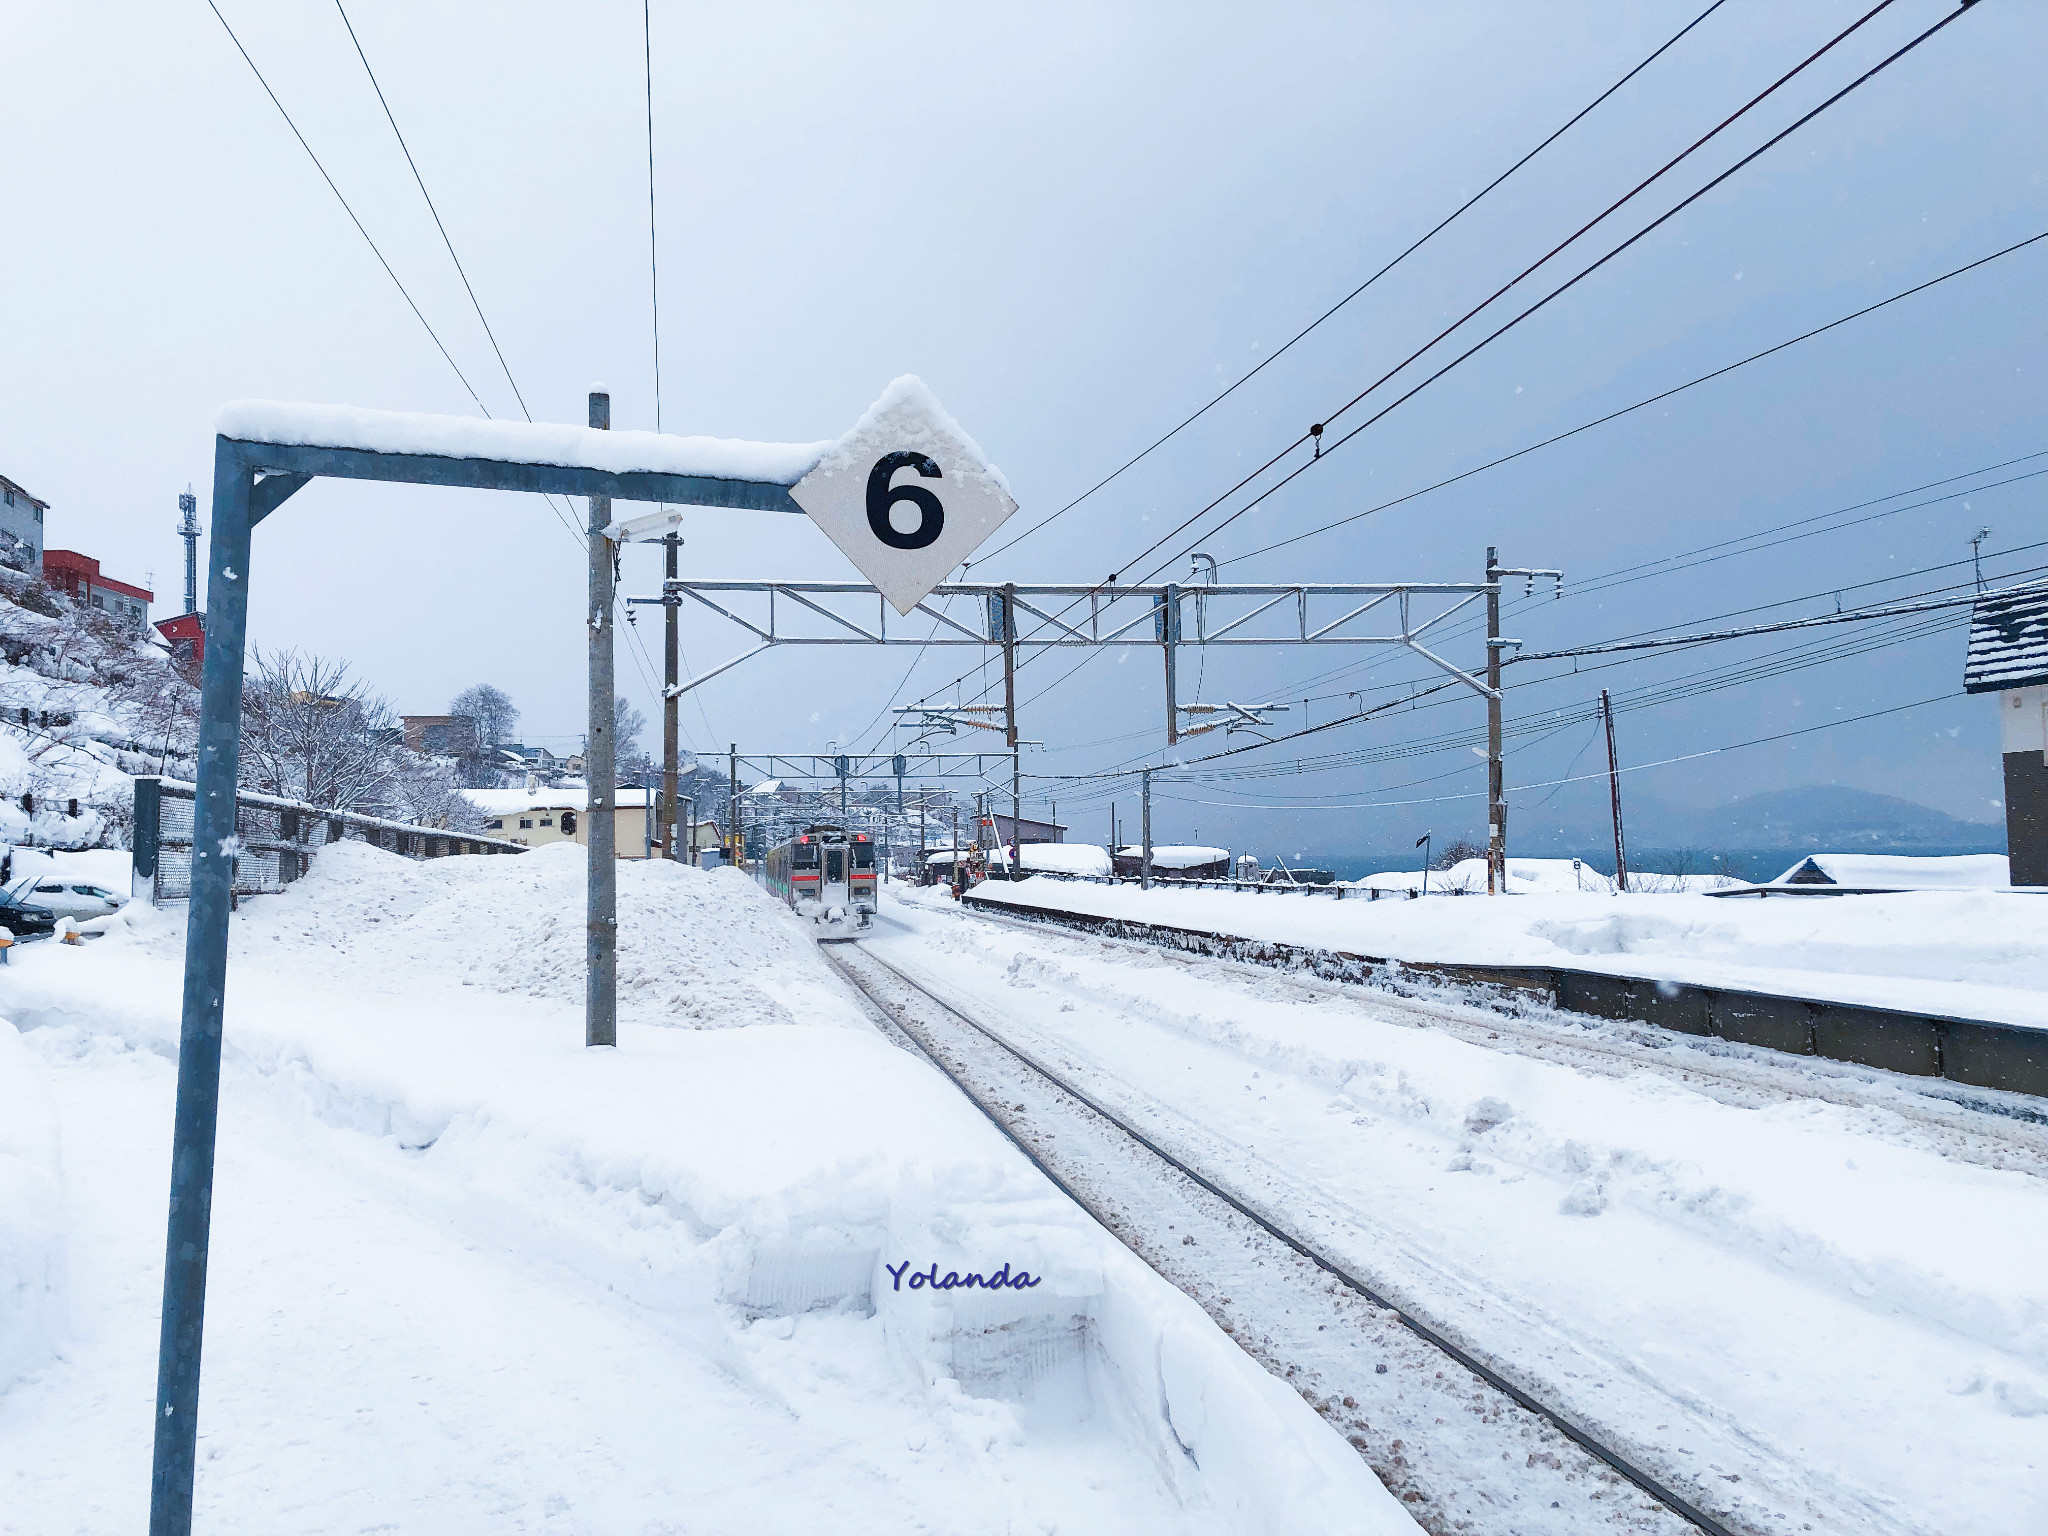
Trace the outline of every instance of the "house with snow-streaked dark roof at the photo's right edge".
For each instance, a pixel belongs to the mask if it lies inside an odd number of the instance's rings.
[[[2013,885],[2048,885],[2048,582],[1976,602],[1962,690],[1999,702]]]

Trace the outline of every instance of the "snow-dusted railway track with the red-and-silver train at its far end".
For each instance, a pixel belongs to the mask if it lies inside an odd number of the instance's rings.
[[[1483,1360],[1040,1053],[872,950],[834,946],[825,958],[893,1038],[946,1073],[1077,1204],[1296,1386],[1425,1530],[1798,1528],[1753,1493],[1714,1501],[1698,1479],[1681,1487],[1688,1479],[1649,1464],[1612,1427],[1544,1401],[1540,1384],[1513,1380],[1520,1372]],[[1239,1290],[1255,1300],[1235,1300]]]

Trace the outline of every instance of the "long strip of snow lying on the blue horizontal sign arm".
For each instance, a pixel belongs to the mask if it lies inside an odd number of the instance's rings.
[[[817,467],[831,442],[741,442],[680,438],[668,432],[598,432],[553,422],[487,422],[475,416],[375,412],[358,406],[291,406],[276,399],[236,399],[221,408],[213,430],[238,442],[281,442],[311,449],[418,453],[438,459],[602,469],[614,475],[705,475],[795,485]]]

